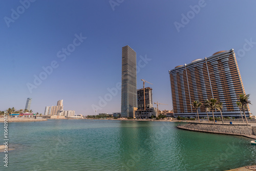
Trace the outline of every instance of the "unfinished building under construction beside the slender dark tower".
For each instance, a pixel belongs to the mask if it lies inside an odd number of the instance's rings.
[[[145,88],[145,99],[144,89],[137,90],[137,105],[138,109],[135,111],[136,118],[149,118],[152,115],[156,116],[156,108],[153,108],[152,100],[152,88]]]

